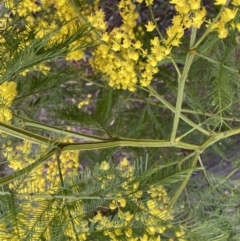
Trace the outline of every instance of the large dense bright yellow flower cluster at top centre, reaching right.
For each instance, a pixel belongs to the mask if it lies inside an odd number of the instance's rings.
[[[200,0],[171,0],[170,3],[175,5],[177,14],[172,19],[172,25],[166,30],[165,39],[154,37],[150,40],[150,51],[143,49],[142,42],[134,34],[138,14],[131,1],[121,0],[118,4],[123,24],[110,33],[104,31],[106,24],[101,10],[101,14],[91,16],[89,22],[99,30],[98,34],[103,42],[93,52],[90,64],[93,69],[103,74],[111,87],[134,91],[138,81],[142,86],[148,86],[153,75],[158,72],[157,63],[170,54],[172,47],[181,44],[185,30],[190,27],[200,28],[204,23],[207,12],[201,6]],[[146,1],[146,4],[151,5],[152,1]],[[233,1],[233,4],[238,6],[238,1]],[[226,8],[220,23],[215,24],[213,29],[220,29],[221,24],[234,19],[236,11]],[[145,26],[149,32],[156,28],[152,21]],[[240,28],[240,24],[236,26]],[[219,37],[222,38],[223,33],[219,34]]]

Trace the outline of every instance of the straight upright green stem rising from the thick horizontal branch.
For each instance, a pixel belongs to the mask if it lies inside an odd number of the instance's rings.
[[[188,76],[188,72],[190,70],[190,66],[192,64],[192,61],[194,59],[194,53],[188,53],[183,69],[183,74],[180,79],[179,87],[178,87],[178,95],[177,95],[177,103],[176,103],[176,109],[175,109],[175,116],[173,120],[173,128],[171,133],[171,142],[175,142],[176,133],[178,129],[178,123],[181,115],[181,107],[182,107],[182,101],[183,101],[183,95],[184,95],[184,87],[185,87],[185,81]]]

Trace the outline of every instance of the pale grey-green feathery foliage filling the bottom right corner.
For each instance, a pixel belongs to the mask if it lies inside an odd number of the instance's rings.
[[[189,230],[190,240],[224,241],[236,237],[239,180],[224,179],[209,172],[207,176],[209,185],[202,178],[192,178],[188,183],[186,195],[180,199],[183,202],[175,209],[176,220]]]

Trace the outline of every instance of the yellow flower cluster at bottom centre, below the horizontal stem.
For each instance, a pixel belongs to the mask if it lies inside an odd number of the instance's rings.
[[[109,163],[103,161],[100,164],[100,170],[108,173],[110,170]],[[97,211],[97,214],[89,221],[94,224],[96,230],[103,231],[106,240],[117,241],[124,236],[133,241],[160,241],[161,234],[171,228],[173,219],[173,210],[167,209],[169,197],[166,189],[161,185],[149,185],[148,191],[143,193],[140,190],[140,183],[135,181],[135,168],[127,158],[120,161],[117,170],[118,177],[122,178],[121,190],[114,194],[116,199],[110,202],[109,209],[114,210],[114,212],[117,210],[119,219],[115,219],[111,215],[104,216],[101,211]],[[102,188],[109,186],[110,180],[108,178],[106,180],[108,181]],[[142,198],[143,195],[144,199]],[[133,205],[131,202],[137,205],[137,211],[129,210],[128,207]],[[160,220],[165,225],[159,226]],[[131,228],[131,223],[134,222],[141,223],[145,227],[145,230],[141,232],[142,234],[134,233]],[[183,241],[184,234],[183,228],[181,228],[175,233],[174,237]]]

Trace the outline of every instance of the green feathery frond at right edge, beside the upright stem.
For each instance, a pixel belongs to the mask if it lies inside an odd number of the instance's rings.
[[[220,42],[218,37],[209,35],[197,50],[211,60],[196,56],[185,88],[189,113],[214,131],[231,128],[231,123],[224,117],[235,114],[236,98],[239,99],[238,47],[234,39],[231,41],[221,42],[220,48],[216,45]]]

